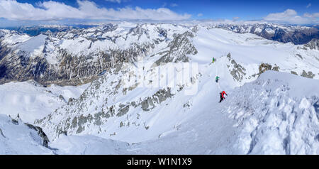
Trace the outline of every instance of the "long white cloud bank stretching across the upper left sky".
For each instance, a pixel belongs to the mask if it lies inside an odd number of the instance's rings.
[[[43,1],[38,3],[40,8],[36,8],[32,4],[19,3],[15,0],[0,0],[0,18],[25,21],[52,21],[68,18],[180,21],[191,17],[187,13],[181,15],[166,8],[142,9],[136,7],[132,9],[125,7],[121,9],[106,9],[98,7],[93,1],[86,0],[77,0],[77,4],[79,8],[57,1]]]

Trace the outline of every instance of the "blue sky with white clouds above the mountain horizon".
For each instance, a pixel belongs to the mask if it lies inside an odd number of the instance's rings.
[[[318,23],[318,9],[319,0],[0,0],[0,24],[135,19],[236,19],[306,24]]]

